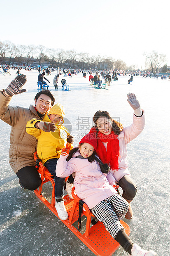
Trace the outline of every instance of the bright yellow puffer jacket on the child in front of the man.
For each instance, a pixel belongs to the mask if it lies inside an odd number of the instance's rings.
[[[42,160],[42,164],[51,158],[59,158],[61,149],[67,143],[67,136],[70,135],[68,130],[63,125],[56,125],[55,132],[46,133],[43,130],[35,128],[35,123],[39,120],[32,119],[27,122],[26,131],[30,135],[37,138],[37,154],[38,158]],[[48,114],[46,113],[43,122],[50,122]]]

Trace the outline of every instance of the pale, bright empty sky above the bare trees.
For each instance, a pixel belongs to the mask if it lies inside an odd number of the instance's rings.
[[[87,52],[145,68],[144,52],[167,56],[169,0],[0,0],[0,41]],[[3,21],[3,23],[2,23]]]

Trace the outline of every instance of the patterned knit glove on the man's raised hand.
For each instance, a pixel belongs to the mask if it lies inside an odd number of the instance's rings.
[[[24,76],[22,74],[22,75],[16,76],[16,78],[14,78],[14,80],[12,80],[11,83],[9,83],[5,92],[10,97],[12,97],[13,95],[20,94],[22,92],[26,92],[27,91],[26,89],[22,89],[26,81],[27,81],[26,75]]]

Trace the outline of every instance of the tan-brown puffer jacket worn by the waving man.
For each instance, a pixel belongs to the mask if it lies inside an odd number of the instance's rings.
[[[26,132],[26,123],[34,118],[42,120],[43,117],[39,118],[33,105],[29,109],[9,106],[12,97],[5,97],[3,91],[0,90],[0,119],[12,126],[9,164],[17,173],[25,166],[35,165],[33,155],[37,150],[37,139]]]

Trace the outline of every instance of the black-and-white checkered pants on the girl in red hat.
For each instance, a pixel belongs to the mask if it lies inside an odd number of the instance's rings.
[[[124,230],[119,220],[124,218],[128,207],[129,204],[123,197],[114,194],[91,208],[91,212],[105,225],[106,230],[115,239],[118,232]]]

